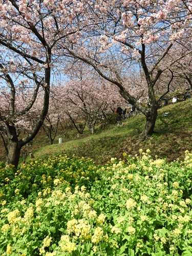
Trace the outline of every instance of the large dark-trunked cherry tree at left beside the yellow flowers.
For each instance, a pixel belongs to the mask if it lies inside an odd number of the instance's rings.
[[[82,13],[82,3],[74,2],[73,5],[65,1],[18,1],[5,0],[0,3],[0,46],[1,46],[1,74],[7,87],[6,100],[7,112],[1,106],[1,131],[7,136],[7,165],[18,165],[21,148],[31,141],[38,133],[44,122],[49,108],[49,94],[52,71],[58,73],[59,41],[67,40],[70,35],[79,34],[86,27],[89,20]],[[22,64],[24,71],[29,67],[29,73],[25,73],[30,83],[35,84],[32,97],[26,96],[26,105],[20,102],[20,109],[16,110],[16,93],[20,90],[17,80],[23,73],[17,71]],[[27,68],[25,68],[27,62]],[[59,66],[59,65],[58,65]],[[11,77],[17,73],[17,78]],[[29,77],[28,77],[29,76]],[[23,91],[26,82],[23,80]],[[17,129],[17,117],[25,118],[35,102],[39,90],[44,90],[44,101],[40,115],[35,120],[29,134],[19,138]],[[27,99],[29,101],[27,102]]]

